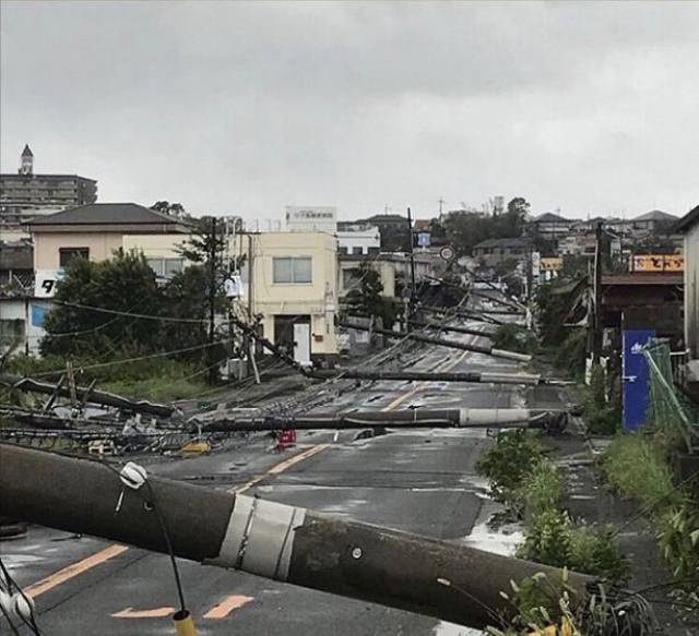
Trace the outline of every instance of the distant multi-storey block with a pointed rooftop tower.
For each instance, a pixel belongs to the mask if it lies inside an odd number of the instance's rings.
[[[37,216],[95,203],[97,181],[78,175],[35,175],[28,145],[16,175],[0,175],[0,232],[20,232],[21,225]]]

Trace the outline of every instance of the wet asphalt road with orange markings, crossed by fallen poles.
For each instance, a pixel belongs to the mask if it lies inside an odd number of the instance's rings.
[[[412,368],[516,370],[509,362],[443,347],[422,349]],[[524,391],[514,386],[375,382],[336,396],[332,407],[509,407],[524,401]],[[276,454],[269,437],[253,436],[237,449],[164,458],[149,463],[149,470],[487,549],[487,541],[484,544],[472,531],[483,526],[490,509],[486,484],[474,472],[488,444],[485,431],[473,430],[401,431],[366,439],[348,431],[312,432],[299,434],[296,448]],[[35,597],[38,623],[47,635],[174,634],[169,616],[177,597],[165,556],[46,528],[32,528],[24,539],[0,543],[0,552],[16,580]],[[473,633],[233,571],[188,562],[180,562],[180,568],[200,635]]]

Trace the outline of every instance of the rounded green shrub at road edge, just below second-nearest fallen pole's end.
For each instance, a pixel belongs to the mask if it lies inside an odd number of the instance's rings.
[[[512,499],[524,476],[542,458],[541,445],[525,431],[503,431],[496,443],[479,457],[476,471],[488,478],[493,496],[505,501]]]

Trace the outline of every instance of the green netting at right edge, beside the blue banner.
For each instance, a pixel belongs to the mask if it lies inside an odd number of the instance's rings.
[[[650,372],[648,423],[670,437],[683,439],[689,453],[699,451],[699,424],[683,405],[673,385],[670,346],[653,341],[644,350]]]

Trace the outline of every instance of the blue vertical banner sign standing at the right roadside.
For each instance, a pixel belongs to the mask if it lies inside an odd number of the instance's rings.
[[[650,379],[643,347],[655,336],[648,329],[624,332],[624,430],[637,431],[645,423]]]

